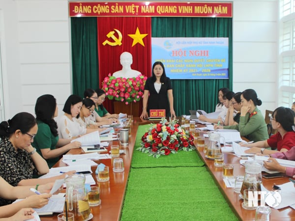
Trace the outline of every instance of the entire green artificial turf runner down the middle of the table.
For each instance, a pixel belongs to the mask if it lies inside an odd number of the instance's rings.
[[[148,157],[136,150],[145,130],[137,134],[121,221],[237,220],[196,151]]]

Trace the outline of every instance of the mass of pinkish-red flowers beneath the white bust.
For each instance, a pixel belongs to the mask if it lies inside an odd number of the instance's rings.
[[[139,75],[136,78],[115,78],[111,74],[105,77],[102,82],[102,89],[110,100],[136,103],[144,96],[146,76]]]

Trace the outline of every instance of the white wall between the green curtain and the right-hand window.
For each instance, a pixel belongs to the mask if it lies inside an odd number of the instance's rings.
[[[263,113],[278,106],[278,13],[277,0],[234,1],[233,89],[255,89]]]

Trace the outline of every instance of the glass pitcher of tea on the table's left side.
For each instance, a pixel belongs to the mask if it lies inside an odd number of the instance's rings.
[[[85,175],[73,174],[65,179],[65,201],[67,210],[74,214],[75,221],[86,221],[90,216],[90,207],[85,192]]]

